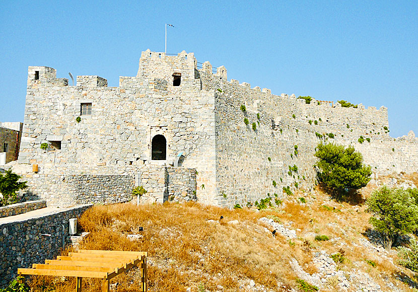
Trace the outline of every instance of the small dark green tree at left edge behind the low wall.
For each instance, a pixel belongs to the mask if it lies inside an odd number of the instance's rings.
[[[16,192],[21,189],[26,189],[26,181],[20,182],[20,175],[13,173],[11,169],[7,170],[5,174],[0,173],[0,206],[5,206],[17,202]]]

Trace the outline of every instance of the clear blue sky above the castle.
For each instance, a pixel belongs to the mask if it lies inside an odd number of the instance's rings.
[[[135,76],[141,51],[194,52],[273,94],[389,109],[418,135],[415,1],[2,1],[0,121],[23,121],[29,65],[59,78]]]

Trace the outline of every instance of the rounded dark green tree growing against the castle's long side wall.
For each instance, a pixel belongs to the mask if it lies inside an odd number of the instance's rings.
[[[319,143],[315,157],[319,158],[319,181],[338,199],[343,189],[360,189],[370,181],[370,166],[363,164],[363,156],[353,147]]]

